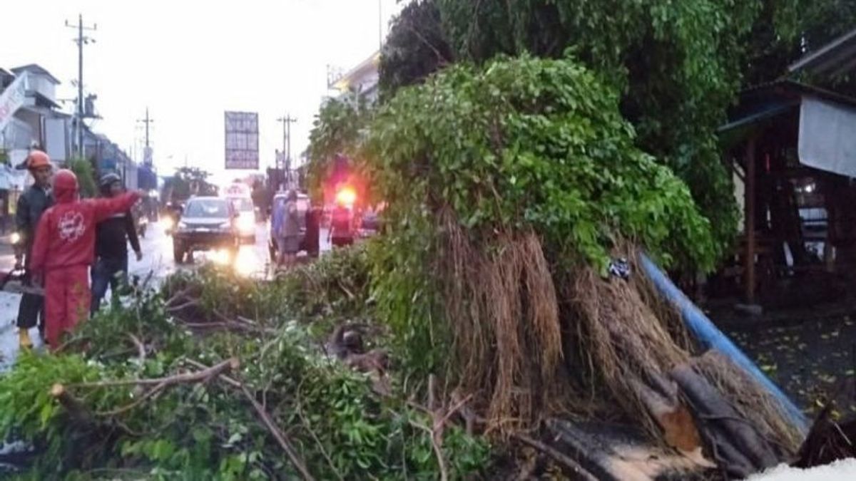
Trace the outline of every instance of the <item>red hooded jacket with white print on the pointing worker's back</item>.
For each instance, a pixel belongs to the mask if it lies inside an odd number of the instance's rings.
[[[77,188],[54,186],[56,205],[45,211],[36,229],[30,268],[51,270],[72,265],[92,265],[95,255],[95,224],[128,211],[139,193],[124,193],[111,199],[77,199]]]

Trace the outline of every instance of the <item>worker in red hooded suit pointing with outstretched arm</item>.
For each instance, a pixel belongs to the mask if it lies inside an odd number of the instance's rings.
[[[140,193],[110,199],[78,198],[77,176],[61,169],[54,175],[56,205],[45,211],[36,230],[31,269],[45,283],[45,328],[51,349],[62,333],[89,314],[89,267],[95,253],[95,225],[128,211]]]

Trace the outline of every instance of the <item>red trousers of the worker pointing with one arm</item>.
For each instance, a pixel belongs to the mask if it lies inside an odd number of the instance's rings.
[[[60,346],[62,334],[89,315],[89,267],[72,265],[45,273],[45,335],[51,351]]]

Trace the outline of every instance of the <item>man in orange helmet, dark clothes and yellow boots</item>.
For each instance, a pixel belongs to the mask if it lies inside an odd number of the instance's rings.
[[[33,186],[29,187],[21,197],[18,198],[18,206],[15,211],[15,229],[21,236],[20,241],[15,244],[15,270],[25,270],[24,285],[32,285],[33,271],[31,269],[31,257],[33,250],[33,238],[36,235],[36,226],[39,218],[48,207],[53,205],[51,197],[51,159],[43,151],[31,151],[27,156],[25,167],[33,175]],[[30,339],[30,330],[36,326],[40,318],[39,332],[45,337],[45,300],[37,294],[23,294],[21,304],[18,306],[18,341],[21,348],[33,347]]]

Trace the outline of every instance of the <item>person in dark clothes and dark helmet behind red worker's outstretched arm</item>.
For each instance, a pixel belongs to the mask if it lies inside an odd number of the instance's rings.
[[[122,178],[110,173],[98,182],[102,197],[116,198],[122,194]],[[114,214],[98,223],[95,231],[95,264],[92,266],[92,315],[98,312],[107,288],[118,295],[119,286],[128,284],[128,241],[137,261],[142,260],[140,238],[130,210]]]

